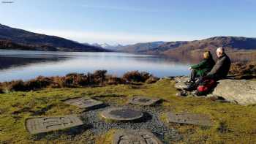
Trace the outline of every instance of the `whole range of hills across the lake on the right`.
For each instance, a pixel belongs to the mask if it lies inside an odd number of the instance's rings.
[[[127,53],[150,53],[172,55],[180,53],[197,53],[199,51],[211,50],[223,47],[228,51],[256,50],[256,38],[247,37],[211,37],[195,41],[177,42],[146,42],[135,45],[125,45],[118,48],[118,51]]]

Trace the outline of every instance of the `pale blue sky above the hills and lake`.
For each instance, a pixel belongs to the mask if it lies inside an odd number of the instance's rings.
[[[256,0],[0,1],[1,24],[78,42],[256,37]]]

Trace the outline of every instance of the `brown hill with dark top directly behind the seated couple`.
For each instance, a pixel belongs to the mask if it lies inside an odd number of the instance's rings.
[[[215,56],[217,48],[223,47],[234,61],[253,60],[256,58],[256,38],[246,37],[211,37],[187,42],[184,45],[160,45],[154,53],[177,58],[202,58],[198,53],[210,50]],[[157,48],[156,48],[157,49]],[[162,50],[161,50],[162,49]],[[164,49],[164,50],[163,50]]]

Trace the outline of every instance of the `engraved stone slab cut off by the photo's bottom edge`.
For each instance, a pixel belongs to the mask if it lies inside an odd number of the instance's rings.
[[[113,136],[113,144],[162,144],[162,142],[148,130],[118,130]]]

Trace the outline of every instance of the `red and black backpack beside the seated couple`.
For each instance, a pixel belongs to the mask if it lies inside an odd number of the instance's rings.
[[[197,86],[197,91],[196,94],[197,96],[203,96],[207,95],[209,91],[212,90],[217,85],[215,80],[208,79],[208,80],[203,80],[202,83],[199,83],[199,86]]]

